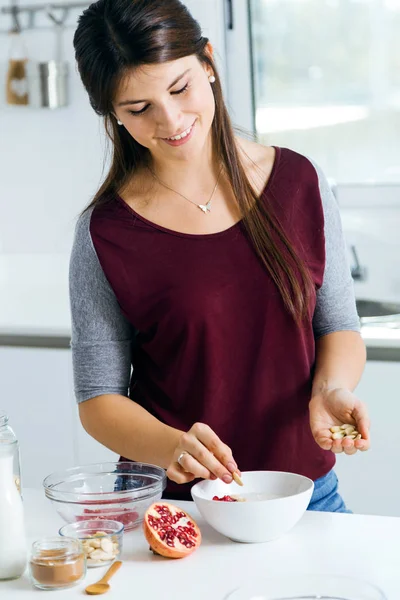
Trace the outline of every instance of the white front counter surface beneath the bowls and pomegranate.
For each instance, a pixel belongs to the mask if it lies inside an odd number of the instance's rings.
[[[122,600],[223,600],[236,587],[259,576],[290,577],[322,573],[367,579],[380,587],[388,600],[400,597],[400,518],[323,512],[306,512],[285,536],[264,544],[239,544],[213,531],[191,502],[177,502],[199,524],[203,541],[191,556],[169,560],[148,549],[141,529],[125,534],[123,565],[111,580],[105,598]],[[41,490],[24,491],[29,542],[57,535],[63,524]],[[83,583],[47,598],[82,597],[106,568],[89,569]],[[4,600],[38,598],[27,573],[0,582]]]

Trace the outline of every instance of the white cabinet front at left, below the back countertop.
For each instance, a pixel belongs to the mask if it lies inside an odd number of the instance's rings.
[[[22,482],[40,488],[54,471],[114,460],[80,424],[71,351],[0,347],[0,409],[21,449]]]

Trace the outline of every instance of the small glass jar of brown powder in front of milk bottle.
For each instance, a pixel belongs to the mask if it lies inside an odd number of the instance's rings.
[[[73,538],[44,538],[32,544],[29,572],[41,590],[61,590],[78,584],[86,575],[83,546]]]

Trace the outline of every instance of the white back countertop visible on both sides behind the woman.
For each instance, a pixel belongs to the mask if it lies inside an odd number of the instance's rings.
[[[66,255],[0,255],[0,336],[70,338],[68,265]],[[370,348],[400,348],[400,325],[362,336]]]

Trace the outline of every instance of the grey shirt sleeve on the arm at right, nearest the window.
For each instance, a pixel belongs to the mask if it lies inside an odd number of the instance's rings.
[[[360,320],[339,207],[325,175],[311,162],[318,175],[325,219],[325,272],[313,318],[314,336],[318,339],[334,331],[360,331]]]

